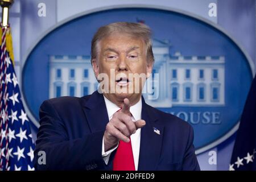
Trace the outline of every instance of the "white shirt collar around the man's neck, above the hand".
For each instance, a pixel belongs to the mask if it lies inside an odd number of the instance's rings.
[[[106,104],[106,109],[108,111],[108,117],[111,118],[112,115],[120,109],[120,107],[118,107],[113,102],[108,100],[108,98],[106,98],[105,96],[104,96],[104,100]],[[140,98],[139,102],[137,102],[135,105],[130,107],[130,112],[133,115],[135,121],[137,121],[138,119],[141,119],[141,110],[142,110],[142,100]]]

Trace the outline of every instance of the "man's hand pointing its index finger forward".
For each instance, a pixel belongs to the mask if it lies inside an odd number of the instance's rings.
[[[104,133],[105,152],[117,145],[119,140],[130,142],[130,135],[146,125],[143,119],[133,122],[130,113],[130,101],[125,98],[121,110],[113,114]]]

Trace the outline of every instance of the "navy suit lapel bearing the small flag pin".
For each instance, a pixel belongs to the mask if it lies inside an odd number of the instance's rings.
[[[146,121],[146,125],[141,129],[138,164],[140,171],[155,170],[160,158],[164,127],[155,122],[158,117],[152,112],[142,98],[142,119]],[[154,132],[154,127],[160,131],[160,135]]]

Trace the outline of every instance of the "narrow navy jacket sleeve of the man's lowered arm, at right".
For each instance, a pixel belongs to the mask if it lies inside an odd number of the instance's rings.
[[[200,171],[199,163],[197,162],[195,147],[193,145],[194,134],[193,128],[189,125],[188,143],[183,158],[183,171]]]

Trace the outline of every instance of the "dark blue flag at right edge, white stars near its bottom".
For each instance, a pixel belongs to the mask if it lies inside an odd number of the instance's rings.
[[[243,108],[229,171],[256,171],[256,76]]]

